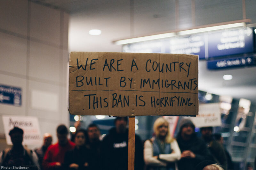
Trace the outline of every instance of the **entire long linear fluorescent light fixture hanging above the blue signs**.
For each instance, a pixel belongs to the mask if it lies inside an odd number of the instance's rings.
[[[160,34],[155,34],[155,35],[148,35],[148,36],[141,36],[141,37],[117,40],[117,41],[113,41],[113,43],[116,45],[130,44],[130,43],[134,43],[134,42],[169,38],[169,37],[173,37],[176,35],[188,35],[188,34],[193,34],[193,33],[202,33],[202,32],[221,30],[221,29],[227,29],[227,28],[243,27],[243,26],[246,26],[246,23],[250,23],[250,22],[251,22],[251,19],[241,19],[241,20],[236,20],[236,21],[229,21],[229,22],[222,22],[222,23],[217,23],[217,24],[197,26],[197,27],[194,27],[193,29],[189,29],[189,30],[173,30],[173,31],[170,31],[169,33],[165,32],[165,33],[160,33]]]

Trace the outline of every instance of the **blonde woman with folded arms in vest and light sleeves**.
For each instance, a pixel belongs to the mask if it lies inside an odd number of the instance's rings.
[[[170,136],[169,122],[159,117],[154,122],[156,137],[144,143],[144,160],[147,170],[177,170],[176,161],[181,153],[177,141]]]

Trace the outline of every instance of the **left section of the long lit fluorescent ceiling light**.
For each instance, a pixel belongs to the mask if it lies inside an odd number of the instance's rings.
[[[130,38],[130,39],[125,39],[125,40],[118,40],[118,41],[114,41],[114,43],[116,45],[130,44],[130,43],[134,43],[134,42],[168,38],[168,37],[173,37],[175,35],[176,35],[176,33],[163,33],[163,34],[149,35],[149,36],[144,36],[144,37]]]

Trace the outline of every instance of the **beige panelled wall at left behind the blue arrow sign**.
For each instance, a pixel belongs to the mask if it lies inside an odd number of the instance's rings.
[[[22,89],[21,106],[0,103],[0,115],[36,116],[41,134],[50,132],[57,142],[57,125],[69,125],[69,14],[27,0],[1,0],[0,16],[0,84]]]

